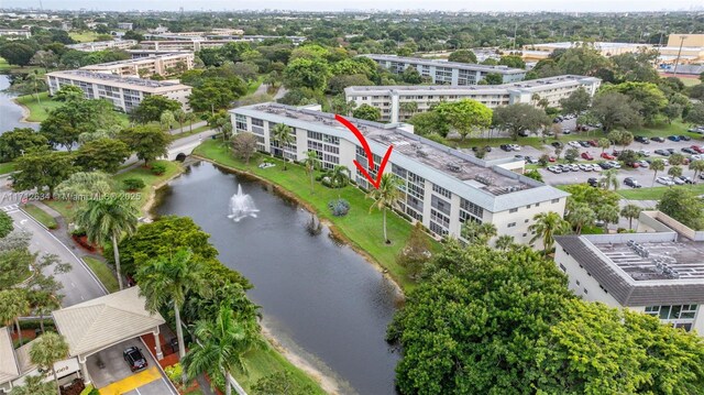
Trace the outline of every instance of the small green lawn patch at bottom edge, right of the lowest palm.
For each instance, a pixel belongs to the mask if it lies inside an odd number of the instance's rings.
[[[324,394],[318,383],[309,377],[304,371],[294,366],[288,360],[279,354],[275,349],[270,348],[266,351],[251,351],[244,355],[248,367],[248,375],[235,373],[234,378],[244,387],[244,391],[252,393],[252,386],[256,382],[267,375],[288,371],[292,373],[292,381],[301,384],[310,384],[315,391],[310,395]]]

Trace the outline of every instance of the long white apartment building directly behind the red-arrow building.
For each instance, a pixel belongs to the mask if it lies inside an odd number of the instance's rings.
[[[352,86],[344,89],[346,101],[370,105],[382,111],[382,121],[399,122],[415,113],[426,112],[440,101],[476,100],[488,108],[514,103],[538,106],[544,99],[549,107],[579,88],[594,96],[602,80],[583,76],[558,76],[503,85],[473,86]],[[408,109],[404,103],[415,103]]]

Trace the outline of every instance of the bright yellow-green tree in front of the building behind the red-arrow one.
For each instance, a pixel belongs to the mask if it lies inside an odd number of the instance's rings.
[[[464,140],[477,129],[492,125],[492,110],[479,101],[462,99],[441,102],[435,108]]]

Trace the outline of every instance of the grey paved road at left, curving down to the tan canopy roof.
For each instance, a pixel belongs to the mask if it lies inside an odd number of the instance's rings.
[[[78,259],[77,255],[80,254],[80,251],[74,252],[64,245],[48,230],[44,229],[24,211],[18,209],[16,205],[6,205],[0,207],[0,209],[12,217],[15,228],[24,229],[32,233],[30,244],[32,252],[55,254],[58,255],[62,262],[72,265],[70,272],[56,275],[56,279],[64,285],[62,289],[64,294],[62,306],[73,306],[107,294],[105,288]],[[47,267],[47,274],[50,274],[54,267]]]

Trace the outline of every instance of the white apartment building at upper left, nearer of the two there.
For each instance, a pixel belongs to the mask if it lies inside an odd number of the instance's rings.
[[[64,85],[75,85],[82,89],[87,99],[106,99],[124,112],[130,112],[150,95],[161,95],[182,103],[184,111],[190,111],[188,96],[190,87],[183,84],[155,81],[151,79],[120,77],[112,74],[86,70],[53,72],[46,74],[50,95]]]

